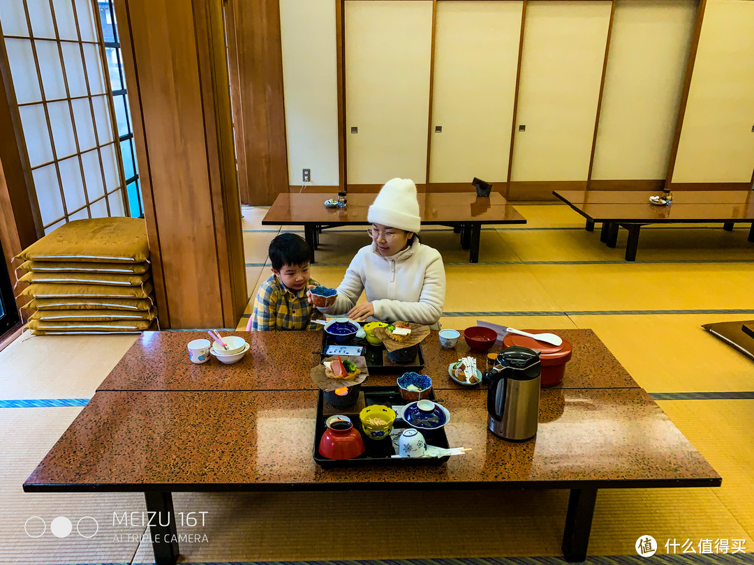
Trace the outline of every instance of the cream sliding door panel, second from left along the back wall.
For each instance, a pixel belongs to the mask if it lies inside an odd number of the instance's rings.
[[[437,4],[429,182],[507,181],[522,11]]]

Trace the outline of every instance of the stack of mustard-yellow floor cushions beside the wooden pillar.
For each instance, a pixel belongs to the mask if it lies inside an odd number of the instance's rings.
[[[146,224],[75,220],[18,255],[33,334],[136,333],[156,327]]]

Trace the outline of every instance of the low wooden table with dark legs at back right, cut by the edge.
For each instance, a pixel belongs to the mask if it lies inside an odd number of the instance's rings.
[[[703,224],[720,222],[732,231],[737,222],[751,223],[754,242],[754,192],[673,191],[671,206],[653,206],[649,197],[657,191],[553,191],[560,200],[587,218],[587,230],[602,222],[600,241],[614,248],[618,227],[628,230],[626,261],[636,261],[639,231],[648,224]]]

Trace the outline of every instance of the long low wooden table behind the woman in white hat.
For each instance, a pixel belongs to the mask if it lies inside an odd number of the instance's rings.
[[[345,208],[327,208],[332,193],[278,194],[262,225],[303,225],[311,261],[323,229],[343,225],[369,225],[366,216],[375,194],[348,194]],[[499,192],[478,197],[473,192],[420,192],[417,194],[421,223],[444,225],[461,233],[461,246],[469,249],[469,262],[479,261],[482,224],[526,224],[526,218]]]

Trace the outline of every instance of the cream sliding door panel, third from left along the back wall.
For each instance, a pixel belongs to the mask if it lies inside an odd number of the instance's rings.
[[[511,180],[587,180],[610,11],[611,2],[527,5]]]

